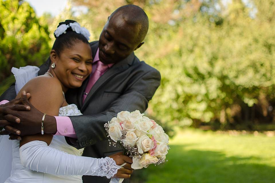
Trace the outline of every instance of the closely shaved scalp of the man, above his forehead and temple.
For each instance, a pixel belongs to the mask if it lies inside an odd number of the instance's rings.
[[[149,21],[146,13],[142,8],[136,5],[125,5],[116,9],[109,17],[109,21],[112,19],[117,21],[117,18],[121,18],[127,25],[135,27],[136,41],[142,42],[148,32]]]

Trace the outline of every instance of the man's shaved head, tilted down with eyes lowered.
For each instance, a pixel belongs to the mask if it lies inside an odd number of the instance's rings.
[[[148,17],[136,5],[116,9],[108,18],[99,37],[99,59],[117,63],[140,48],[148,31]]]

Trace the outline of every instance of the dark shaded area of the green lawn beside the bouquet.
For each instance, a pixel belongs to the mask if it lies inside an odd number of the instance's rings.
[[[275,167],[257,164],[260,158],[227,157],[216,151],[184,150],[186,146],[170,146],[166,162],[135,170],[131,183],[269,183],[275,182]]]

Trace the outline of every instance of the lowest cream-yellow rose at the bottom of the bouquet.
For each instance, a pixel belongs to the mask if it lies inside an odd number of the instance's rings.
[[[151,156],[149,153],[145,153],[140,160],[136,160],[133,158],[133,164],[131,167],[133,169],[141,169],[146,168],[150,164],[155,164],[158,162],[158,158],[156,156]]]

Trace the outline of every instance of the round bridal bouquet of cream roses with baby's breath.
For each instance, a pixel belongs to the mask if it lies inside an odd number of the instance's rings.
[[[121,145],[124,154],[133,158],[133,169],[162,164],[169,150],[169,137],[154,120],[134,112],[121,111],[104,125],[110,146]]]

